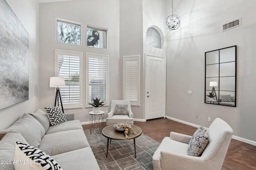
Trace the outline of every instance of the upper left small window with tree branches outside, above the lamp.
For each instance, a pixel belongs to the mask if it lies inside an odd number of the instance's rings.
[[[57,19],[56,24],[56,41],[81,45],[81,23]]]

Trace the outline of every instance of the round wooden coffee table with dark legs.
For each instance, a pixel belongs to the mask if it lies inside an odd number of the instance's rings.
[[[135,158],[136,158],[136,144],[135,144],[135,138],[139,137],[142,134],[142,130],[140,129],[140,127],[136,126],[136,125],[131,125],[132,129],[137,133],[136,135],[134,135],[132,133],[132,131],[129,131],[128,137],[129,138],[125,138],[124,135],[124,131],[117,131],[114,129],[113,125],[109,125],[106,126],[102,129],[102,135],[104,137],[106,137],[108,139],[108,143],[109,143],[109,139],[110,139],[110,143],[111,140],[131,140],[133,139],[133,143],[134,143],[134,152],[135,152]],[[108,145],[107,145],[107,156],[108,157]]]

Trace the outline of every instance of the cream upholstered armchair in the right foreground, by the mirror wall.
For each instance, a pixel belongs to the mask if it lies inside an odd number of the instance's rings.
[[[220,170],[232,138],[232,128],[216,118],[208,130],[208,145],[201,156],[189,156],[188,143],[191,136],[171,132],[154,153],[154,170]]]

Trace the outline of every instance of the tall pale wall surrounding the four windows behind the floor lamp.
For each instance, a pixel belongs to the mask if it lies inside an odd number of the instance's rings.
[[[40,105],[39,108],[54,106],[54,88],[49,87],[49,80],[54,76],[54,49],[80,51],[85,54],[96,53],[109,55],[109,101],[122,98],[122,69],[119,53],[119,0],[76,0],[40,4]],[[82,23],[82,45],[56,42],[56,18]],[[108,49],[87,47],[86,26],[95,25],[108,29]],[[89,111],[84,104],[81,109],[66,109],[65,113],[75,113],[75,119],[89,122]],[[103,111],[107,106],[101,107]]]

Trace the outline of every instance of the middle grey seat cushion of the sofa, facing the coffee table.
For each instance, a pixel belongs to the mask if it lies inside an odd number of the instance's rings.
[[[76,129],[44,135],[39,149],[52,156],[84,147],[90,147],[84,131]]]

